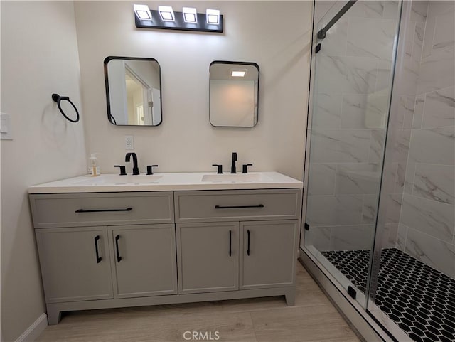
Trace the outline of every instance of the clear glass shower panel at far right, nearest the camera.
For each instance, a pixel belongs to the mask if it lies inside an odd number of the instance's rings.
[[[455,1],[403,3],[368,295],[398,341],[455,341],[454,43]]]

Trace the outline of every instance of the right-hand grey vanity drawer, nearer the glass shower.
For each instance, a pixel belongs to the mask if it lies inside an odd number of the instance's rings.
[[[291,220],[300,216],[301,191],[178,191],[176,222]]]

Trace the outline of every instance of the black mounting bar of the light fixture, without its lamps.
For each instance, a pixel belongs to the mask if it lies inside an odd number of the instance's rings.
[[[137,28],[159,28],[164,30],[180,30],[180,31],[200,31],[200,32],[217,32],[223,33],[223,15],[220,14],[219,23],[207,23],[205,13],[196,14],[198,17],[197,23],[187,23],[183,20],[183,12],[174,11],[175,21],[164,21],[159,15],[159,11],[151,9],[151,20],[139,19],[134,14]]]

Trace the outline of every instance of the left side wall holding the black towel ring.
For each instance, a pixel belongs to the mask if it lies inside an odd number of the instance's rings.
[[[68,95],[80,108],[79,82],[73,2],[1,1],[1,112],[14,138],[1,141],[4,341],[45,312],[27,187],[87,172],[82,122],[66,121],[50,98]]]

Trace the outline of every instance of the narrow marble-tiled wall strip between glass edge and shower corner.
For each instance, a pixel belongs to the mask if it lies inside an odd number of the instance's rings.
[[[428,2],[412,1],[410,13],[407,14],[405,10],[402,16],[388,128],[388,146],[391,147],[386,154],[382,184],[382,194],[386,197],[386,208],[381,213],[386,216],[383,248],[395,247],[397,244]]]

